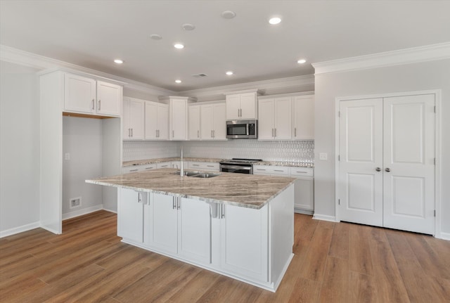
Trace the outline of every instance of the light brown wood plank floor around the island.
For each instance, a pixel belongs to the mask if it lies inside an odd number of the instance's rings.
[[[115,214],[0,239],[0,302],[450,302],[450,242],[295,214],[276,293],[120,242]]]

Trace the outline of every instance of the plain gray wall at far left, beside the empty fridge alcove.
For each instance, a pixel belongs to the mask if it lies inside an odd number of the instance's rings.
[[[39,224],[37,70],[0,62],[0,233]]]

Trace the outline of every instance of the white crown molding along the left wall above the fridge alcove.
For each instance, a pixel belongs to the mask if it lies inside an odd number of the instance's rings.
[[[143,82],[138,82],[124,77],[119,77],[116,75],[108,74],[106,72],[100,72],[98,70],[93,70],[88,67],[82,67],[61,60],[40,56],[37,55],[36,53],[30,53],[27,51],[22,51],[20,49],[14,49],[13,47],[6,46],[3,44],[0,44],[0,60],[9,63],[15,63],[18,65],[33,67],[41,71],[65,70],[65,71],[82,72],[84,74],[88,74],[94,77],[102,77],[105,79],[122,82],[124,89],[130,89],[132,91],[141,91],[145,94],[150,94],[154,96],[165,96],[176,94],[174,91],[162,89],[161,87],[158,86],[153,86]]]

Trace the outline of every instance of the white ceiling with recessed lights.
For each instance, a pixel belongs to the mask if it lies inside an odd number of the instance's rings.
[[[311,75],[311,63],[450,41],[450,1],[0,0],[0,12],[0,44],[172,91]]]

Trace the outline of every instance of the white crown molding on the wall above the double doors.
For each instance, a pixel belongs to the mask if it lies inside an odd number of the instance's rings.
[[[450,58],[450,42],[313,63],[315,75]]]

